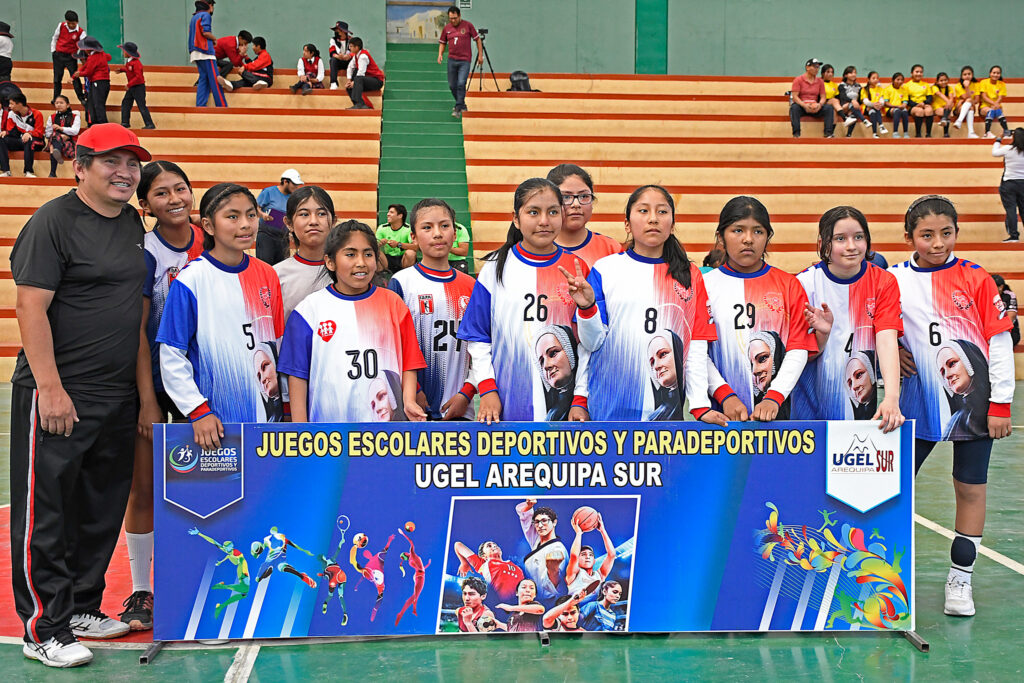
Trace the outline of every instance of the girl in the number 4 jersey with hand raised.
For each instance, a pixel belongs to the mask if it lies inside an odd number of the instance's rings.
[[[899,287],[892,273],[865,260],[870,249],[871,233],[860,211],[841,206],[821,216],[821,261],[797,275],[807,292],[804,315],[819,350],[793,393],[798,419],[881,420],[887,432],[903,424]],[[886,397],[878,405],[880,369]]]

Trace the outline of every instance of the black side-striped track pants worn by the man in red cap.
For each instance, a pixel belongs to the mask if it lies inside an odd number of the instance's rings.
[[[35,389],[10,410],[10,550],[26,640],[44,642],[72,614],[98,609],[131,489],[135,399],[72,397],[71,436],[39,426]]]

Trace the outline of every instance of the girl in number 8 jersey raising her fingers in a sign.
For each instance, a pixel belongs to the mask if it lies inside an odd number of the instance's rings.
[[[708,397],[708,342],[716,338],[700,269],[673,234],[676,206],[658,185],[626,203],[629,250],[594,264],[589,278],[560,268],[591,350],[596,420],[682,420],[683,403],[725,426]]]

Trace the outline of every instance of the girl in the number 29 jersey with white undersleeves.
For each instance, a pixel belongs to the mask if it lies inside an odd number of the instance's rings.
[[[817,350],[804,319],[804,288],[765,263],[772,233],[761,202],[732,198],[718,219],[725,263],[703,276],[718,332],[711,344],[709,388],[713,407],[729,420],[788,419],[790,392],[808,352]]]

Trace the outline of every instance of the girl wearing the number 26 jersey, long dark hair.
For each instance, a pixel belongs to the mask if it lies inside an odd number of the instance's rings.
[[[545,178],[515,190],[505,244],[484,257],[459,339],[469,342],[480,422],[588,419],[589,353],[572,330],[577,304],[559,267],[589,272],[555,244],[562,196]]]

